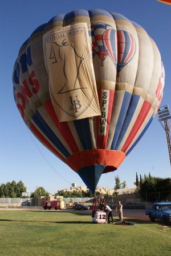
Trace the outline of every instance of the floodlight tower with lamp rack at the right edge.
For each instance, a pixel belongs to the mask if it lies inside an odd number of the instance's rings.
[[[161,126],[166,132],[166,139],[168,142],[169,158],[171,165],[171,142],[170,142],[170,121],[171,121],[171,112],[168,105],[160,107],[157,111],[158,121],[161,123]]]

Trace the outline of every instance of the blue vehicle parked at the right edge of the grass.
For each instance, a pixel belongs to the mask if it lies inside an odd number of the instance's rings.
[[[155,219],[164,221],[165,225],[171,223],[171,202],[149,203],[145,209],[145,214],[149,216],[150,221]]]

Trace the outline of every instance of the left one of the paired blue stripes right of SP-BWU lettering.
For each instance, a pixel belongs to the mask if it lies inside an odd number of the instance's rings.
[[[131,93],[128,93],[127,91],[125,91],[123,103],[122,103],[120,114],[119,114],[119,118],[118,118],[117,124],[116,124],[115,134],[114,134],[112,145],[111,145],[112,150],[115,150],[115,148],[116,148],[117,139],[118,139],[119,134],[121,132],[123,122],[124,122],[124,119],[125,119],[125,115],[127,114],[127,110],[128,110],[128,106],[129,106],[129,103],[130,103],[130,100],[131,100],[131,96],[132,96]]]

